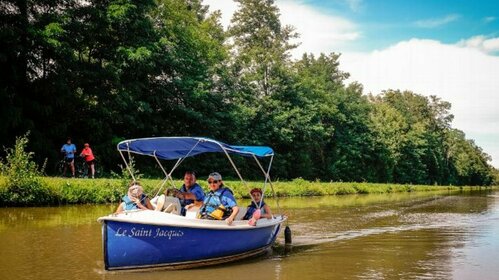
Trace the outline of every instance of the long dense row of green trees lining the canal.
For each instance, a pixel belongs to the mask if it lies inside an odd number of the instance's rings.
[[[0,144],[31,131],[53,172],[67,136],[119,170],[118,141],[195,135],[266,144],[274,177],[489,185],[489,156],[451,126],[450,104],[344,82],[339,54],[289,51],[273,0],[237,0],[224,30],[201,0],[4,0]],[[200,173],[217,158],[191,161]],[[157,170],[142,170],[144,173]]]

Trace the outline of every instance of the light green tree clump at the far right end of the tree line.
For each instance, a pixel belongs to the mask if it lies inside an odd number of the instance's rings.
[[[398,183],[490,184],[490,158],[451,128],[450,103],[396,90],[371,101],[382,177]]]

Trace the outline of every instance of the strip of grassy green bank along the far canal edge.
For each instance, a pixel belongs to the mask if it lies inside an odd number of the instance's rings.
[[[30,203],[31,205],[61,205],[61,204],[85,204],[85,203],[114,203],[120,201],[126,193],[126,182],[120,179],[71,179],[57,177],[41,177],[43,193],[46,199],[42,203]],[[141,180],[145,192],[154,195],[161,184],[161,180]],[[176,186],[181,181],[176,181]],[[203,189],[208,190],[206,182],[199,181]],[[234,191],[237,198],[248,198],[248,187],[239,181],[225,181],[226,185]],[[248,182],[250,187],[261,187],[261,182]],[[274,188],[277,196],[324,196],[324,195],[346,195],[346,194],[383,194],[400,192],[428,192],[441,190],[478,189],[479,187],[456,187],[456,186],[423,186],[423,185],[397,185],[397,184],[373,184],[373,183],[340,183],[340,182],[310,182],[295,179],[286,182],[275,182]],[[482,187],[483,189],[484,187]],[[267,194],[271,195],[270,188]],[[0,205],[25,205],[12,201],[11,191],[6,187],[6,178],[0,176]]]

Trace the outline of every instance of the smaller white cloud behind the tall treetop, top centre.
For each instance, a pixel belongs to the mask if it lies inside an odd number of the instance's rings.
[[[211,11],[222,11],[221,22],[225,28],[229,26],[232,14],[238,8],[232,0],[204,0],[203,3],[209,5]],[[281,13],[281,22],[294,26],[300,34],[300,38],[296,40],[300,45],[292,51],[293,57],[301,57],[304,52],[317,54],[342,49],[361,36],[353,22],[324,14],[302,1],[279,0],[275,3]]]

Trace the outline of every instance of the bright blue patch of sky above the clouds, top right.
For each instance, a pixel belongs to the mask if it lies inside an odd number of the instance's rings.
[[[277,1],[279,2],[279,1]],[[349,50],[386,48],[411,38],[456,43],[478,34],[499,36],[499,1],[295,1],[355,22],[359,40]],[[497,54],[497,51],[495,52]]]

